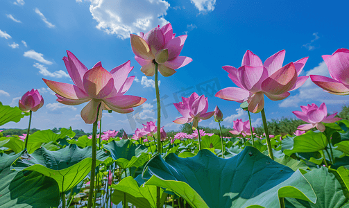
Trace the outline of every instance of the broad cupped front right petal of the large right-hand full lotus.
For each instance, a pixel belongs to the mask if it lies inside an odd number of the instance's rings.
[[[271,74],[262,83],[263,92],[270,94],[283,94],[296,84],[297,71],[291,62]]]

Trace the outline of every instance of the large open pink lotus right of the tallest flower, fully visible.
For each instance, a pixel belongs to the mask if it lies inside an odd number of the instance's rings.
[[[239,69],[222,67],[237,87],[227,87],[216,93],[216,97],[238,103],[248,102],[248,111],[257,113],[264,108],[264,94],[272,101],[287,98],[294,89],[305,83],[308,76],[299,76],[308,58],[290,62],[282,67],[285,51],[271,55],[264,64],[257,55],[246,51]]]

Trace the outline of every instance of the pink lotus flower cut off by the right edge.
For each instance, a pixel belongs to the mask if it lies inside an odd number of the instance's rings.
[[[323,88],[325,92],[337,95],[349,94],[349,50],[337,49],[332,55],[323,55],[330,76],[310,75],[315,85]]]

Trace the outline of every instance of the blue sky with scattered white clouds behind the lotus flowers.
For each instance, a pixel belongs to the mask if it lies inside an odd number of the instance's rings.
[[[240,67],[246,50],[262,62],[285,49],[284,64],[309,56],[301,76],[318,74],[330,77],[321,55],[349,48],[348,1],[219,1],[219,0],[62,0],[0,1],[0,101],[17,106],[19,98],[31,89],[39,89],[44,106],[33,112],[32,127],[41,130],[71,126],[92,132],[92,125],[80,117],[87,104],[69,106],[56,101],[42,78],[71,83],[62,61],[66,50],[91,68],[101,61],[110,71],[130,60],[136,76],[126,94],[147,98],[142,107],[130,114],[103,113],[103,130],[133,133],[142,123],[156,118],[153,77],[140,71],[130,46],[130,33],[146,33],[170,22],[173,33],[187,34],[181,55],[193,61],[173,76],[160,75],[163,97],[162,125],[178,130],[173,123],[180,116],[172,103],[192,92],[205,94],[209,111],[216,105],[223,112],[223,125],[232,127],[236,119],[248,119],[240,103],[224,101],[214,94],[225,87],[236,87],[221,67]],[[348,96],[336,96],[323,90],[310,78],[282,101],[265,98],[267,119],[282,116],[296,118],[300,105],[325,103],[330,113],[348,105]],[[253,124],[261,125],[260,114],[252,114]],[[218,127],[212,119],[199,125]],[[28,117],[1,128],[27,128]]]

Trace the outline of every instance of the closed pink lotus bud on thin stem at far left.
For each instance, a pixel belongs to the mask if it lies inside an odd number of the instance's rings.
[[[18,101],[18,107],[22,111],[31,110],[36,112],[42,105],[44,105],[44,98],[42,98],[37,89],[26,92]]]

